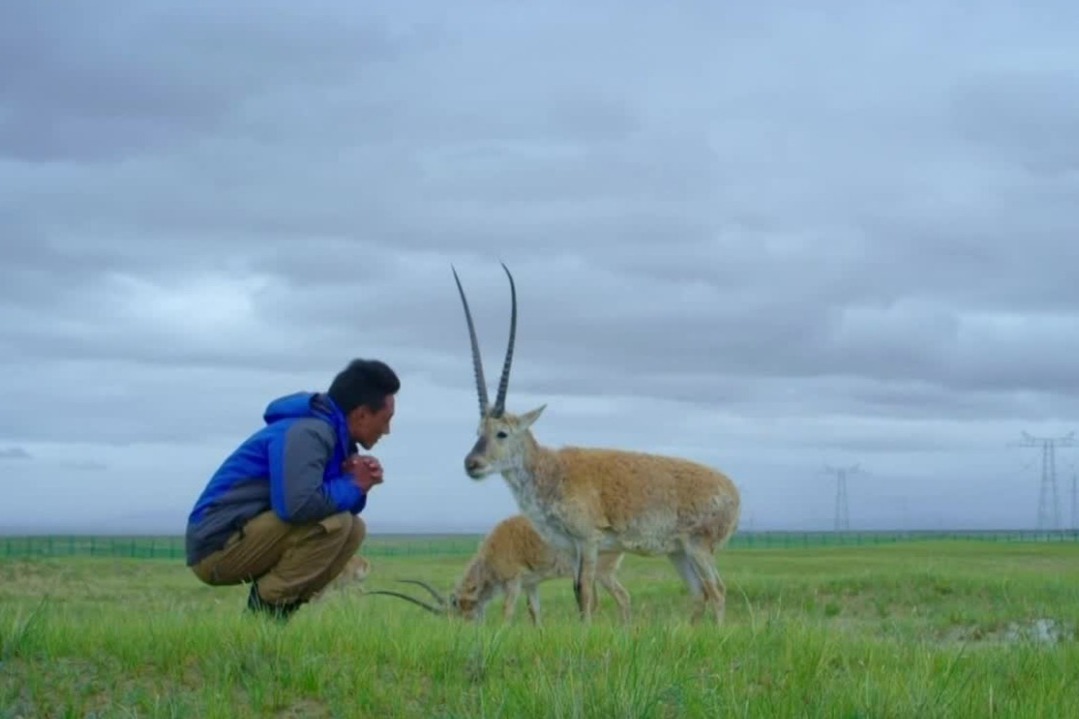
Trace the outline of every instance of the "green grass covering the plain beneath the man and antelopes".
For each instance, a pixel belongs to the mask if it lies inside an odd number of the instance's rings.
[[[382,557],[370,586],[449,588],[464,559]],[[285,626],[163,559],[0,560],[13,717],[1079,716],[1079,544],[733,548],[723,627],[685,622],[664,559],[627,557],[633,622],[569,580],[544,625],[480,625],[342,591]],[[1051,635],[1051,636],[1050,636]]]

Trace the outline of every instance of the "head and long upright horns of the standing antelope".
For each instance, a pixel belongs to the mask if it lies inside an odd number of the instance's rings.
[[[472,343],[473,371],[476,377],[476,391],[479,395],[479,429],[476,444],[465,456],[465,474],[473,479],[482,479],[488,475],[511,469],[523,455],[525,447],[533,443],[530,429],[546,405],[541,405],[523,415],[513,415],[506,411],[506,390],[509,386],[509,368],[514,362],[514,341],[517,338],[517,287],[514,275],[503,263],[502,269],[509,277],[511,310],[509,315],[509,342],[506,347],[506,360],[502,365],[502,377],[498,379],[498,394],[494,406],[490,405],[487,395],[487,380],[483,378],[483,361],[480,358],[479,340],[476,338],[476,325],[473,323],[468,309],[468,299],[461,286],[457,271],[453,270],[453,280],[457,283],[461,304],[464,307],[465,321],[468,323],[468,339]]]

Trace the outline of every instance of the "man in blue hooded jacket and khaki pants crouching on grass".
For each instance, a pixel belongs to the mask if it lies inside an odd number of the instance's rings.
[[[400,380],[353,360],[325,393],[271,402],[257,431],[210,478],[188,518],[187,564],[211,586],[250,582],[247,608],[287,620],[359,550],[359,513],[382,483],[370,450],[390,434]]]

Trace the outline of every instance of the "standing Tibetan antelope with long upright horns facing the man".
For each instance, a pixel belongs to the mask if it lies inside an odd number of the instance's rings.
[[[520,511],[543,538],[575,557],[574,594],[584,621],[591,618],[596,564],[600,552],[666,555],[694,597],[692,620],[711,607],[722,622],[726,587],[714,553],[738,527],[738,488],[721,472],[697,462],[640,451],[595,447],[549,448],[532,426],[546,405],[522,415],[506,411],[506,389],[517,334],[517,288],[509,268],[509,340],[490,405],[476,327],[464,288],[461,295],[473,371],[479,394],[478,438],[464,458],[474,480],[501,474]]]

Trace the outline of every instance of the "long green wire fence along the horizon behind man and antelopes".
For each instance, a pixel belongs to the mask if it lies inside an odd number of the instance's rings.
[[[480,534],[448,537],[378,537],[364,543],[363,554],[370,557],[439,557],[472,555]],[[732,550],[790,550],[829,546],[870,546],[899,542],[924,541],[983,542],[1079,542],[1079,531],[856,531],[856,532],[738,532],[728,547]],[[0,537],[0,559],[36,557],[117,557],[137,559],[182,560],[182,537],[132,535],[30,535]]]

